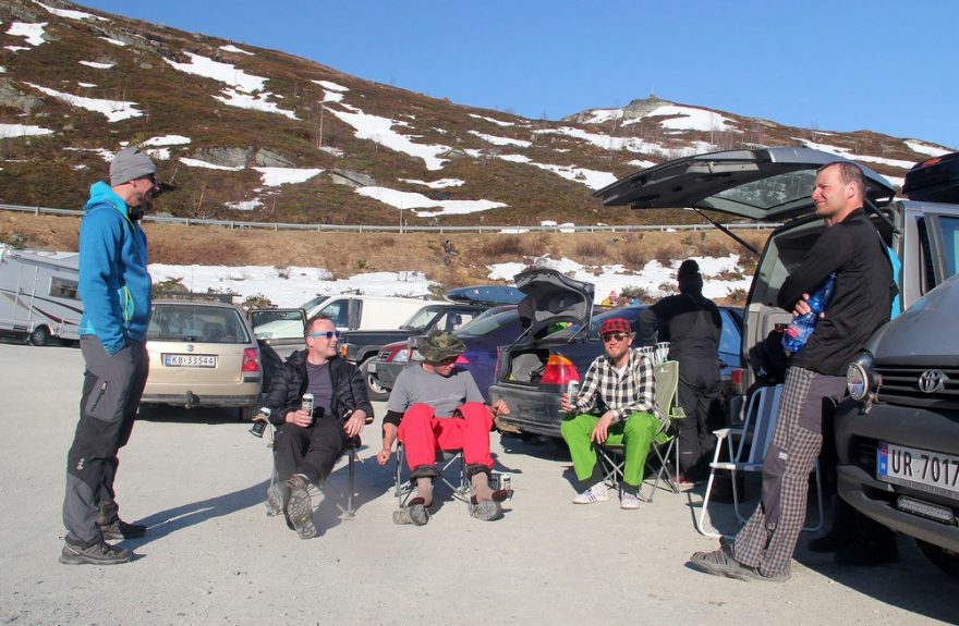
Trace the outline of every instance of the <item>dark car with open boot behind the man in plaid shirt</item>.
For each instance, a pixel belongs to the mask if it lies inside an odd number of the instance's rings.
[[[490,400],[505,400],[509,415],[500,416],[503,430],[559,437],[563,413],[559,397],[570,380],[582,380],[597,356],[603,354],[599,328],[609,318],[629,320],[633,332],[633,347],[643,345],[639,332],[640,312],[645,306],[623,307],[600,314],[583,330],[574,324],[538,341],[519,341],[500,351],[496,383],[489,389]],[[723,332],[719,361],[723,378],[741,367],[739,351],[742,342],[742,315],[739,309],[719,307]]]

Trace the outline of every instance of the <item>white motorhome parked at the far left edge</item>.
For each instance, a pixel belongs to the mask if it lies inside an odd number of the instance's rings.
[[[80,339],[78,253],[0,247],[0,332],[43,345]]]

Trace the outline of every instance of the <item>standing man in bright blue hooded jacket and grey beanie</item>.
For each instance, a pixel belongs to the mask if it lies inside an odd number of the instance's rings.
[[[159,191],[157,167],[137,148],[120,150],[110,184],[97,182],[80,226],[80,347],[86,364],[80,421],[66,455],[65,544],[60,563],[112,565],[133,560],[107,543],[146,527],[120,519],[113,493],[117,453],[130,439],[149,360],[150,277],[143,209]]]

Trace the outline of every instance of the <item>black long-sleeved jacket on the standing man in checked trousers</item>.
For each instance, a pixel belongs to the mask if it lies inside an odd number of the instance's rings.
[[[803,293],[812,294],[836,272],[833,300],[809,343],[789,358],[828,376],[845,376],[869,336],[889,319],[893,267],[885,244],[862,209],[827,228],[802,265],[779,287],[778,305],[791,311]]]

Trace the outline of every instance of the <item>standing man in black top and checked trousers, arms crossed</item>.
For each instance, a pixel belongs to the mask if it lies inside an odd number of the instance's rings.
[[[846,366],[889,319],[893,270],[862,208],[864,196],[865,181],[854,163],[829,163],[816,173],[812,198],[827,228],[782,283],[778,304],[794,316],[809,312],[809,294],[835,272],[833,300],[806,345],[789,357],[760,506],[731,547],[691,556],[703,572],[742,580],[789,578],[805,520],[809,472],[823,444],[823,419],[831,418],[846,394]]]

